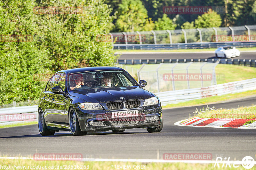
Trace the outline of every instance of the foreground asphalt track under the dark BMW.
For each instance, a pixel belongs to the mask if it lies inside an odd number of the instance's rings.
[[[256,104],[256,97],[210,105],[216,108],[237,108]],[[203,108],[206,106],[199,106]],[[256,154],[255,129],[204,128],[176,126],[175,122],[193,116],[196,107],[163,110],[164,128],[159,133],[145,129],[111,131],[72,136],[56,132],[41,136],[37,125],[0,129],[1,155],[33,156],[34,153],[82,153],[84,158],[162,159],[163,153],[212,153],[216,156],[242,160]]]

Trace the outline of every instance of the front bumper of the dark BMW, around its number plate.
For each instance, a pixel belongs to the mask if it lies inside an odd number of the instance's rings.
[[[132,129],[132,128],[154,128],[161,124],[162,106],[158,103],[154,106],[146,106],[134,109],[123,110],[81,110],[78,106],[75,107],[78,122],[81,131],[95,132],[95,131],[109,131],[119,129]],[[112,111],[126,111],[138,110],[138,117],[125,117],[114,119],[111,117]],[[154,116],[158,119],[154,120]],[[127,121],[131,120],[132,121]],[[91,126],[90,121],[94,124]]]

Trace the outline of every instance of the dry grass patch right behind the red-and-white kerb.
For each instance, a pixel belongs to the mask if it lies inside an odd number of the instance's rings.
[[[237,109],[215,109],[214,106],[198,110],[196,108],[193,112],[195,116],[203,118],[241,118],[254,119],[256,118],[256,106],[239,107]],[[249,122],[248,122],[249,123]]]

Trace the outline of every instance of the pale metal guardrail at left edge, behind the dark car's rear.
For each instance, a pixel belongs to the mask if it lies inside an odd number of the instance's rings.
[[[34,106],[21,106],[0,109],[0,124],[14,124],[37,120],[37,108]]]

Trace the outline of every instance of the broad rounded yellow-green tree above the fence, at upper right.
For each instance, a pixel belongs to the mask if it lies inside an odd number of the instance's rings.
[[[202,16],[198,16],[195,20],[196,28],[220,27],[220,25],[220,15],[217,14],[217,12],[211,10],[209,10],[207,13],[204,13]]]

